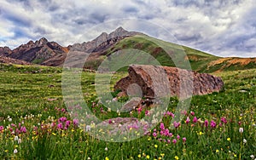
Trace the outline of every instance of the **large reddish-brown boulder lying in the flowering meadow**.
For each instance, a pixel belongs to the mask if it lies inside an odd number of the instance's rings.
[[[176,67],[131,65],[128,71],[129,76],[120,79],[114,86],[115,90],[121,89],[126,94],[129,94],[127,93],[127,90],[130,89],[129,86],[137,83],[142,89],[144,97],[155,97],[156,94],[160,94],[161,91],[165,90],[162,86],[166,86],[164,84],[166,81],[154,83],[153,79],[154,77],[163,76],[166,76],[168,79],[169,94],[182,99],[188,98],[192,94],[211,94],[212,92],[218,92],[224,87],[220,77]]]

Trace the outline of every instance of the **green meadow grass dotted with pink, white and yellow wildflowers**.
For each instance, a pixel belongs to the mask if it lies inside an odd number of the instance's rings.
[[[162,129],[158,125],[155,131],[137,140],[114,143],[97,140],[73,125],[62,100],[61,68],[0,66],[0,127],[4,128],[0,131],[1,159],[251,159],[251,155],[256,156],[256,69],[215,73],[224,80],[223,91],[194,96],[177,129],[169,129],[172,116],[163,118],[162,123],[172,132],[172,137],[160,135]],[[124,72],[114,74],[112,87],[126,75]],[[92,72],[83,72],[81,77],[84,100],[90,110],[102,119],[118,117],[117,112],[97,103],[94,78]],[[175,112],[176,105],[177,99],[172,98],[168,111]],[[144,117],[144,114],[143,110],[121,116]],[[58,124],[60,117],[71,121],[68,129],[51,126]],[[190,118],[188,124],[184,122],[187,117]],[[194,117],[203,123],[193,123]],[[222,123],[222,117],[227,123]],[[209,125],[211,121],[217,123],[216,128],[205,127],[205,120]],[[11,129],[20,129],[19,123],[26,127],[26,133],[12,134]],[[243,133],[239,132],[240,128]],[[15,135],[21,143],[15,140]],[[172,143],[174,139],[176,144]]]

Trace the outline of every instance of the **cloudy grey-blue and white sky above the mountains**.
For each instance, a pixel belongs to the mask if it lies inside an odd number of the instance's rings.
[[[137,25],[136,20],[144,25]],[[149,23],[172,36],[152,30]],[[108,27],[96,27],[102,24]],[[1,47],[14,49],[40,37],[67,46],[118,26],[218,56],[256,57],[254,0],[0,1]]]

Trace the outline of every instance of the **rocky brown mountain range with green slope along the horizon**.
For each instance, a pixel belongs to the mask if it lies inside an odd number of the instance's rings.
[[[170,49],[168,51],[170,53],[166,53],[164,49],[143,37],[148,36],[136,31],[125,31],[122,27],[109,34],[103,32],[90,42],[75,43],[67,47],[49,42],[42,37],[38,41],[29,41],[13,50],[9,47],[0,47],[0,62],[20,65],[61,66],[69,51],[80,50],[90,53],[84,67],[96,69],[102,63],[102,60],[113,52],[121,49],[139,49],[152,54],[163,66],[175,66],[168,54],[177,57],[180,52],[185,52],[187,55],[181,57],[181,60],[189,60],[191,68],[195,71],[213,72],[256,68],[256,58],[222,58],[185,46],[182,46],[181,49],[180,45],[175,43],[163,42]],[[149,38],[157,40],[154,37]]]

